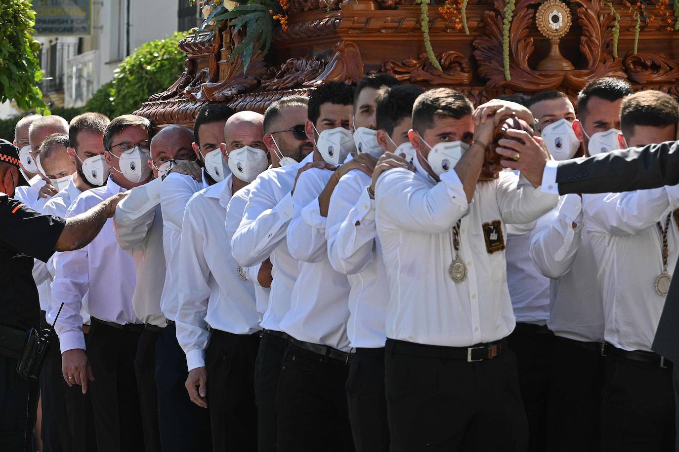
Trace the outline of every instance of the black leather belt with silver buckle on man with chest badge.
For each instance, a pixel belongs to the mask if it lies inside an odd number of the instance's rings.
[[[428,358],[456,359],[466,361],[467,363],[495,358],[500,356],[504,350],[507,350],[507,339],[491,342],[490,344],[477,344],[471,347],[433,346],[395,339],[386,340],[387,352],[426,356]]]

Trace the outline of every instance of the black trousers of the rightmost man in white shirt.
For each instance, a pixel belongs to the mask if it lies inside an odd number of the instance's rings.
[[[674,451],[672,369],[606,357],[603,451]]]

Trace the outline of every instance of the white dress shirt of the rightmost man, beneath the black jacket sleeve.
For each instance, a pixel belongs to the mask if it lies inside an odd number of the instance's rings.
[[[650,351],[665,297],[655,291],[663,272],[662,239],[667,213],[679,207],[679,186],[636,192],[583,194],[585,227],[597,260],[604,300],[606,342],[624,350]],[[667,232],[672,275],[679,254],[674,218]]]

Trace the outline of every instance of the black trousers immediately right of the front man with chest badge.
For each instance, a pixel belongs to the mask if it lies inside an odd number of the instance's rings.
[[[528,451],[544,451],[554,335],[547,327],[517,323],[514,331],[507,336],[507,343],[516,354],[519,369],[521,400],[528,418]]]

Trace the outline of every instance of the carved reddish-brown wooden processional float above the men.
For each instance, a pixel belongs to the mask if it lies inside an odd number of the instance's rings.
[[[158,127],[190,126],[208,102],[263,112],[284,96],[367,73],[454,87],[475,104],[548,89],[574,98],[606,76],[679,96],[679,7],[667,0],[659,0],[665,11],[625,0],[280,1],[287,30],[273,28],[268,52],[253,51],[246,70],[244,54],[234,52],[246,30],[206,26],[179,43],[187,56],[181,77],[136,113]]]

